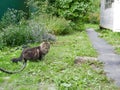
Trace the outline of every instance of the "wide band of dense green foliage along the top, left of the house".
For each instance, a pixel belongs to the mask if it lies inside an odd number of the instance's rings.
[[[100,20],[100,0],[29,0],[28,3],[31,11],[37,14],[47,13],[64,17],[75,25],[84,21],[99,23]]]

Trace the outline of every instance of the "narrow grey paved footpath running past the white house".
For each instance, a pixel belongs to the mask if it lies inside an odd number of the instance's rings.
[[[114,48],[100,38],[94,29],[87,29],[86,31],[93,47],[99,54],[98,60],[104,63],[106,75],[114,80],[115,85],[120,87],[120,55],[115,54]]]

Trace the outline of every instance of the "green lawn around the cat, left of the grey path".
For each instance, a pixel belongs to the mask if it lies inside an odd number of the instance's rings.
[[[36,46],[39,44],[33,44]],[[10,70],[21,64],[10,62],[20,55],[21,50],[0,51],[0,67]],[[74,64],[76,56],[97,57],[85,31],[71,35],[57,36],[50,52],[40,62],[28,62],[24,71],[8,75],[0,72],[2,90],[119,90],[107,79],[100,62]]]

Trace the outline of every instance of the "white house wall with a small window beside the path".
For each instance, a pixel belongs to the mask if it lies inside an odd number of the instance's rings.
[[[100,27],[120,32],[120,0],[101,0]]]

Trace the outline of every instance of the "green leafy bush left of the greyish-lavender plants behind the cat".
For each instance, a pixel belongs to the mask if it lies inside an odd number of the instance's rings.
[[[28,34],[28,31],[23,26],[9,26],[4,29],[3,38],[6,45],[21,45],[26,43],[26,39],[28,40]]]

